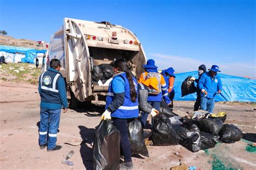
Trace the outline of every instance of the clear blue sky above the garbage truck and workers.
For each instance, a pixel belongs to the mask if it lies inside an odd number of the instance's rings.
[[[12,1],[0,0],[0,30],[46,40],[64,17],[109,21],[136,33],[148,59],[176,72],[220,66],[256,78],[255,1]]]

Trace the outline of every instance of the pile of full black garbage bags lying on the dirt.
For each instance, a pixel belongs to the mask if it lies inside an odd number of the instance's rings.
[[[234,125],[224,124],[224,117],[211,117],[206,113],[200,119],[178,117],[161,104],[160,113],[152,120],[153,145],[184,146],[192,152],[214,147],[218,142],[234,143],[242,138],[242,131]],[[165,111],[164,111],[165,110]]]

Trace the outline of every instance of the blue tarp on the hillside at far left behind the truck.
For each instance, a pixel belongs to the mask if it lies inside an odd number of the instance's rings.
[[[17,46],[6,46],[0,45],[0,51],[9,52],[9,53],[24,53],[25,57],[22,58],[22,63],[34,63],[34,58],[37,57],[37,53],[45,53],[46,50],[35,50],[29,49],[25,47],[17,47]]]

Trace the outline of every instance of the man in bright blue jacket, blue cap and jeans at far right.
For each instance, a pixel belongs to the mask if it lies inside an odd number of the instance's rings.
[[[208,111],[213,113],[215,96],[216,94],[220,94],[222,90],[221,79],[217,72],[219,71],[218,65],[212,65],[209,72],[204,73],[199,79],[199,89],[201,96],[201,110]]]

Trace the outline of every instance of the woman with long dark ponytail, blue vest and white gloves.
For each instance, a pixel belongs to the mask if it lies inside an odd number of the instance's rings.
[[[139,115],[137,91],[136,79],[127,62],[124,59],[116,60],[102,119],[112,119],[114,126],[120,131],[120,146],[124,154],[124,162],[120,164],[120,169],[133,167],[127,123]]]

